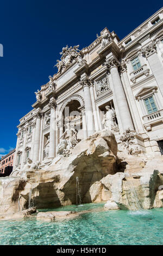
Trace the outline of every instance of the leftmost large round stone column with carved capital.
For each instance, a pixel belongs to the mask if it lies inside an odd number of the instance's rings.
[[[36,128],[35,128],[33,162],[36,162],[36,161],[39,160],[41,118],[42,118],[42,113],[38,112],[36,114]]]

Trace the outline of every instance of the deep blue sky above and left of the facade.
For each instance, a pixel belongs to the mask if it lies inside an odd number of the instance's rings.
[[[62,47],[82,50],[103,28],[120,39],[162,7],[162,1],[1,1],[0,156],[16,146],[19,119],[35,102],[34,92],[53,75]]]

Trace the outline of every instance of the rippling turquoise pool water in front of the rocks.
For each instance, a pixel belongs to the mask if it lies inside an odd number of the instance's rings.
[[[103,204],[85,204],[77,210],[86,209],[92,212],[66,221],[0,221],[0,245],[163,245],[163,209],[103,211]]]

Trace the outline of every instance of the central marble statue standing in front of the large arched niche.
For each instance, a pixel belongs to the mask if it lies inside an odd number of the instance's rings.
[[[60,139],[64,138],[65,141],[67,142],[66,149],[71,149],[78,143],[78,141],[77,141],[77,131],[73,127],[70,127],[69,123],[66,126],[67,126],[67,129],[61,135]]]

